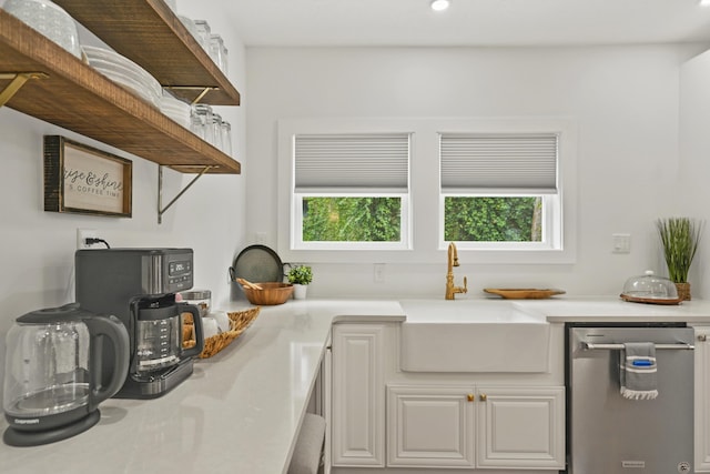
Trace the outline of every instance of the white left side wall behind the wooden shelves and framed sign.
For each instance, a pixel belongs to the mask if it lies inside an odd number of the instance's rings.
[[[186,7],[191,7],[190,3]],[[245,92],[245,52],[214,7],[192,6],[184,13],[204,18],[222,31],[230,49],[230,78]],[[195,11],[196,10],[196,11]],[[182,11],[181,11],[182,12]],[[21,92],[20,92],[21,93]],[[243,170],[245,101],[220,108],[231,121],[234,150]],[[42,135],[62,134],[133,161],[133,216],[116,219],[43,211]],[[158,165],[59,129],[9,108],[0,108],[0,380],[4,334],[26,312],[74,301],[73,256],[77,229],[95,229],[112,246],[186,246],[194,250],[195,288],[212,290],[214,304],[231,297],[227,269],[244,245],[245,177],[201,178],[158,224]],[[165,203],[193,175],[165,170]],[[1,397],[1,395],[0,395]]]

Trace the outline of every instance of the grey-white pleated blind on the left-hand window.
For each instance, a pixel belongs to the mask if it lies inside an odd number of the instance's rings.
[[[408,133],[297,134],[295,191],[407,192]]]

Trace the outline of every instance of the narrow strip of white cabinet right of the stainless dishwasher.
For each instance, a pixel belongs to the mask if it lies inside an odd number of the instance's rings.
[[[710,326],[696,327],[696,472],[710,472]]]

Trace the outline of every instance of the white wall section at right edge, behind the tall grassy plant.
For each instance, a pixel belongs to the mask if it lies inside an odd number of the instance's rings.
[[[692,294],[710,295],[710,51],[680,70],[680,173],[676,202],[679,215],[706,221],[698,256],[688,279]]]

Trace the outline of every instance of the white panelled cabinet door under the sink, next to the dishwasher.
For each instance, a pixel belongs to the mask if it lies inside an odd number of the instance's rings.
[[[477,467],[564,468],[565,389],[479,386]]]

